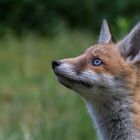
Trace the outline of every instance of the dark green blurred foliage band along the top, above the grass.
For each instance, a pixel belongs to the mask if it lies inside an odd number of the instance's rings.
[[[140,19],[139,9],[139,0],[0,0],[0,33],[53,34],[64,27],[96,33],[104,18],[125,32]]]

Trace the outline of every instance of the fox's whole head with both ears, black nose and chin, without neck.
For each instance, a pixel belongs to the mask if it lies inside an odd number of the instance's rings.
[[[56,60],[52,68],[58,81],[90,100],[122,96],[138,87],[140,23],[114,43],[106,20],[98,43],[75,58]],[[122,92],[124,91],[124,92]]]

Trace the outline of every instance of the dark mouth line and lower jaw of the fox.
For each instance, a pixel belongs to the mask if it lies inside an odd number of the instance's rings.
[[[58,78],[58,81],[68,88],[72,88],[74,85],[79,85],[79,86],[83,86],[83,87],[86,87],[86,88],[92,88],[93,87],[93,85],[91,83],[87,83],[86,81],[82,81],[82,80],[78,80],[78,79],[72,79],[70,77],[67,77],[65,75],[58,74],[58,73],[56,73],[56,76]]]

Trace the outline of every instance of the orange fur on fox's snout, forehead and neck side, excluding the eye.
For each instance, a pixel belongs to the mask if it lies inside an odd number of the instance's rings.
[[[90,70],[96,73],[113,75],[122,78],[126,82],[126,87],[131,91],[134,98],[132,112],[134,113],[135,126],[140,129],[140,71],[137,65],[126,63],[121,56],[117,44],[94,45],[87,49],[78,57],[64,59],[63,62],[75,66],[79,71]],[[101,67],[93,67],[89,60],[101,58],[104,65]]]

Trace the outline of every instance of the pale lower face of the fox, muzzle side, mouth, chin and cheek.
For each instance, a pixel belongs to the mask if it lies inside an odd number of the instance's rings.
[[[56,69],[58,81],[64,86],[80,93],[86,100],[105,100],[126,93],[122,82],[107,74],[93,71],[77,73],[72,65],[61,64]],[[102,98],[101,98],[102,97]]]

